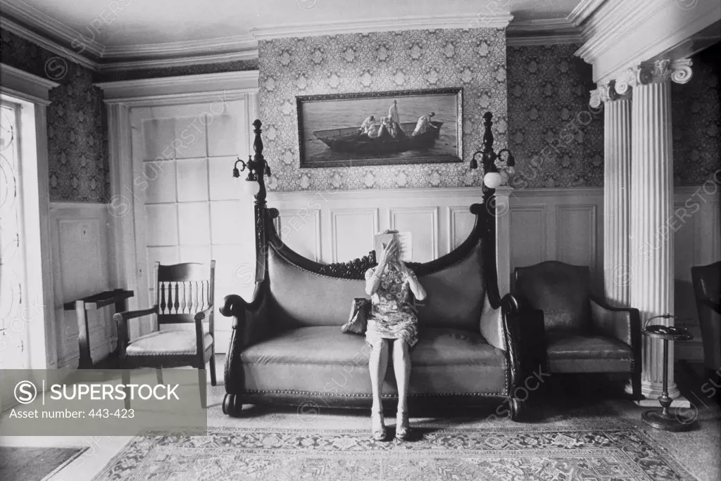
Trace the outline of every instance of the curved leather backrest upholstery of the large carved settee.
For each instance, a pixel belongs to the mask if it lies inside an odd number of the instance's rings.
[[[368,297],[366,282],[306,271],[270,249],[268,274],[271,318],[280,328],[342,325],[354,297]],[[458,263],[419,277],[427,292],[417,303],[419,328],[448,327],[479,331],[485,299],[480,249]],[[322,307],[322,308],[319,308]]]

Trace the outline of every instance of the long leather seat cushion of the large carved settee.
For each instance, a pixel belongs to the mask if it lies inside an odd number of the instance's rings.
[[[364,336],[337,326],[291,329],[242,351],[245,389],[370,396],[369,354]],[[410,355],[410,394],[506,392],[505,353],[478,333],[421,328]],[[384,394],[397,393],[391,364]]]

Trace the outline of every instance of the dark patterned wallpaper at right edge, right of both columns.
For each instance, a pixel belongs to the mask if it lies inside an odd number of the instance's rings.
[[[676,185],[700,185],[721,168],[721,43],[696,55],[688,84],[671,84],[673,177]]]

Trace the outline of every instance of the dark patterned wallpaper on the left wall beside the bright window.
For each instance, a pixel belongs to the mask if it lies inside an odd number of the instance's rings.
[[[107,202],[105,108],[92,72],[7,31],[0,52],[3,63],[61,84],[47,109],[50,201]]]

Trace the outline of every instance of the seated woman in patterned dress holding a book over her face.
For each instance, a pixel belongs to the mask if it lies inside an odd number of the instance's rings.
[[[386,230],[384,234],[397,233]],[[368,317],[366,341],[371,345],[368,368],[371,372],[373,406],[371,426],[373,439],[386,437],[383,421],[381,390],[386,377],[389,351],[393,346],[393,369],[398,385],[398,413],[396,438],[408,436],[408,381],[410,379],[410,349],[418,341],[418,318],[410,303],[410,293],[417,300],[425,299],[425,289],[412,270],[399,257],[399,243],[394,235],[379,253],[378,266],[366,271],[366,294],[371,296],[371,315]]]

